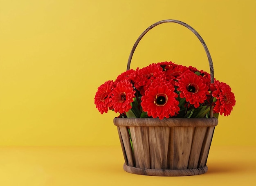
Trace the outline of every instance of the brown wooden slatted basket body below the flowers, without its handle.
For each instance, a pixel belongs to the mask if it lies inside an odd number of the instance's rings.
[[[217,118],[115,118],[124,170],[151,176],[206,173]]]

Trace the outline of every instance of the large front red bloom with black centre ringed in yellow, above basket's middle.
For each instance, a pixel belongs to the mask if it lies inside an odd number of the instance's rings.
[[[175,116],[180,111],[177,101],[178,95],[174,92],[173,85],[165,82],[154,81],[141,97],[141,107],[148,116],[153,118],[169,118]]]

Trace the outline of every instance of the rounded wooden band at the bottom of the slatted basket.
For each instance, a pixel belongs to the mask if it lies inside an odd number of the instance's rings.
[[[207,172],[207,166],[202,168],[193,168],[193,169],[182,169],[182,170],[173,170],[173,169],[150,169],[150,168],[136,168],[124,164],[124,170],[128,173],[137,174],[137,175],[148,175],[148,176],[192,176],[192,175],[201,175]]]

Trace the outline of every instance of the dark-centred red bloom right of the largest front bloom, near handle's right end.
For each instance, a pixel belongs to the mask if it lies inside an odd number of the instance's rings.
[[[175,85],[180,91],[180,98],[186,98],[186,101],[194,105],[195,108],[198,108],[200,103],[204,103],[209,94],[204,78],[193,72],[182,74]]]

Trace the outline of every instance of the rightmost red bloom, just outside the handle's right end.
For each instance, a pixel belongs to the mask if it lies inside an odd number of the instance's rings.
[[[212,96],[217,101],[214,103],[213,112],[228,116],[236,104],[235,95],[226,83],[215,81],[214,85],[216,90],[212,92]]]

